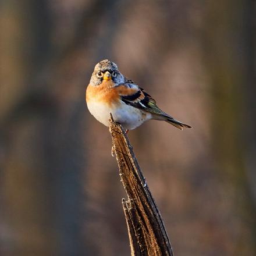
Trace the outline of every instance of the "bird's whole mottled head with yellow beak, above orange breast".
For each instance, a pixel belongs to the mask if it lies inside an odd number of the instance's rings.
[[[115,85],[123,83],[125,81],[123,75],[119,72],[116,63],[104,59],[96,64],[94,72],[91,76],[90,84],[98,86],[102,81],[112,80]]]

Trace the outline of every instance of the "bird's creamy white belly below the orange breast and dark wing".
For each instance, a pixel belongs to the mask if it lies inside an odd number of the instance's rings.
[[[99,122],[105,126],[109,126],[110,113],[113,116],[115,122],[120,123],[123,129],[132,130],[137,126],[140,126],[146,120],[152,118],[151,113],[141,111],[140,109],[134,108],[122,102],[118,106],[108,105],[104,102],[87,102],[90,113]]]

